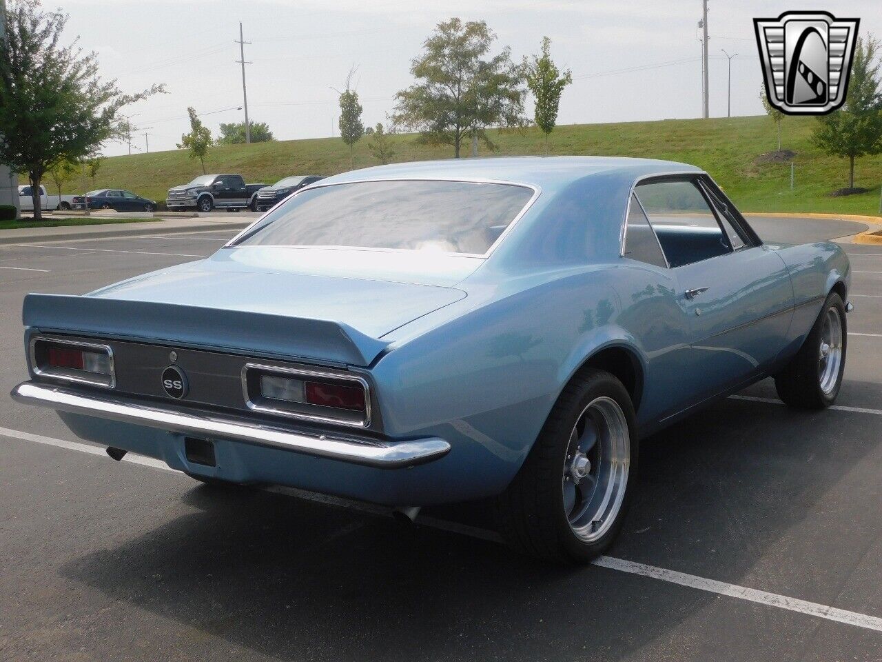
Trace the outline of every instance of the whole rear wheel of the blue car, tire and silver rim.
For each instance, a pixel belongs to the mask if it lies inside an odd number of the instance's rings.
[[[638,440],[631,397],[609,372],[564,388],[517,477],[497,500],[515,549],[585,563],[617,537],[633,493]]]

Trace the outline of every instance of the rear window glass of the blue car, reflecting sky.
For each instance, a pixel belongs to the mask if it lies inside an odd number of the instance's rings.
[[[377,181],[303,189],[235,245],[483,255],[532,198],[515,184]]]

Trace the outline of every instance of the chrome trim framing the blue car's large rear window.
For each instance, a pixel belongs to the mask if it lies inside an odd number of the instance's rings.
[[[482,177],[381,177],[381,178],[367,178],[367,179],[351,179],[345,182],[329,182],[328,184],[322,184],[324,180],[319,179],[318,182],[313,182],[312,184],[308,184],[307,186],[303,186],[303,188],[298,189],[297,191],[291,193],[287,198],[280,200],[276,203],[275,207],[270,207],[266,210],[265,214],[258,218],[257,221],[251,223],[247,228],[243,229],[239,234],[230,239],[226,244],[221,246],[221,250],[224,248],[325,248],[332,250],[355,250],[355,251],[386,251],[386,252],[412,252],[419,253],[420,251],[414,248],[373,248],[371,246],[309,246],[309,245],[268,245],[268,246],[237,246],[235,242],[239,241],[240,238],[246,237],[252,228],[258,225],[259,222],[263,221],[266,214],[273,212],[276,207],[281,205],[283,202],[286,202],[288,199],[293,198],[295,195],[299,195],[305,191],[315,191],[318,188],[325,188],[325,186],[340,186],[342,184],[368,184],[374,182],[463,182],[469,184],[505,184],[508,186],[520,186],[521,188],[531,189],[533,191],[533,195],[530,196],[530,199],[527,200],[527,203],[524,207],[521,207],[518,214],[515,214],[512,221],[508,224],[508,227],[503,230],[502,234],[497,237],[496,241],[490,244],[490,247],[486,252],[476,253],[476,252],[433,252],[434,255],[454,255],[458,257],[467,257],[467,258],[481,258],[486,260],[490,257],[490,255],[497,249],[497,246],[503,242],[505,237],[512,231],[514,226],[520,221],[521,218],[524,217],[525,214],[530,210],[530,207],[533,207],[533,203],[537,198],[542,194],[542,187],[537,186],[536,184],[527,184],[525,182],[516,182],[509,179],[488,179]]]

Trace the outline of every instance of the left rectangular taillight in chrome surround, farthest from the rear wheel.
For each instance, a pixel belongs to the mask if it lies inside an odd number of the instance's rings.
[[[113,351],[92,342],[34,338],[31,341],[34,372],[58,380],[113,387],[116,378]]]

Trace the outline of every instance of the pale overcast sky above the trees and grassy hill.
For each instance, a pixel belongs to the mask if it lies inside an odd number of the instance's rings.
[[[807,2],[807,0],[806,0]],[[44,0],[48,8],[56,6]],[[412,78],[410,61],[438,22],[486,20],[497,47],[512,56],[538,51],[572,69],[559,124],[700,117],[698,21],[701,0],[64,0],[69,39],[98,53],[102,76],[125,92],[164,83],[168,94],[127,113],[143,127],[133,148],[174,149],[193,106],[217,133],[243,120],[239,21],[246,41],[249,114],[276,139],[339,135],[337,95],[355,64],[365,124],[385,122],[392,96]],[[710,0],[711,115],[726,115],[727,60],[732,61],[732,115],[762,112],[754,17],[826,9],[861,19],[861,33],[882,35],[882,2]],[[532,112],[532,106],[529,109]],[[214,112],[220,111],[220,112]],[[146,128],[152,127],[152,128]],[[124,154],[125,145],[104,153]]]

